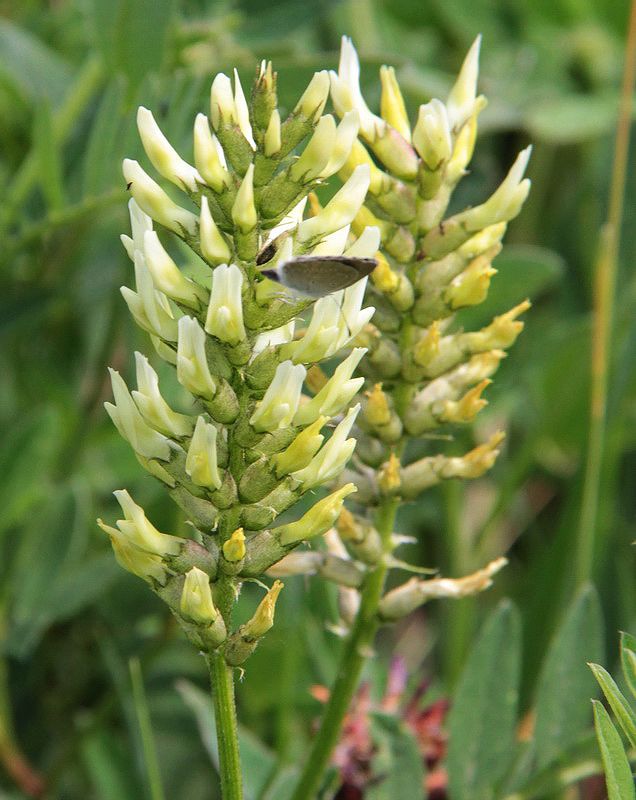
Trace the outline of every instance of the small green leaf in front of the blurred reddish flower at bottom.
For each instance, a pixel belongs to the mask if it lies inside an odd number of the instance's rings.
[[[392,800],[424,796],[423,756],[412,731],[390,714],[373,715],[373,740],[377,751],[373,757],[373,774],[381,780],[369,787],[368,800]]]

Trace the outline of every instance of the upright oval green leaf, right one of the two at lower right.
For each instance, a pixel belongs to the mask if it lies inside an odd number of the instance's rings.
[[[537,766],[548,766],[588,727],[594,681],[589,661],[602,659],[602,621],[596,591],[576,595],[543,663],[536,694],[534,730]]]

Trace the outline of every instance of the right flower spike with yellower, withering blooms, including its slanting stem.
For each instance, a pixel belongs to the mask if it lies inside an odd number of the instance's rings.
[[[455,321],[456,312],[485,299],[506,224],[519,213],[530,189],[523,177],[528,148],[486,202],[447,216],[486,105],[476,92],[479,46],[477,39],[446,103],[433,99],[422,105],[413,128],[392,67],[380,70],[380,116],[362,96],[358,56],[347,38],[338,72],[331,73],[337,114],[345,120],[357,112],[360,119],[359,140],[340,176],[351,180],[361,167],[370,174],[369,192],[352,230],[360,235],[367,226],[378,228],[382,244],[367,288],[376,311],[357,339],[367,353],[361,363],[366,379],[359,397],[356,457],[340,478],[358,487],[359,506],[356,513],[343,509],[339,541],[333,543],[340,557],[348,554],[352,564],[363,565],[364,578],[359,591],[341,592],[344,622],[351,630],[294,800],[313,797],[318,788],[378,626],[430,599],[481,591],[505,564],[499,558],[460,579],[414,577],[385,593],[391,567],[420,571],[394,556],[404,541],[393,530],[400,504],[440,481],[483,475],[497,457],[503,433],[461,455],[431,447],[423,458],[409,460],[407,446],[434,441],[449,425],[475,418],[486,405],[482,394],[490,376],[523,328],[518,317],[529,307],[524,301],[474,332],[463,331]],[[313,558],[307,557],[307,567],[313,567]],[[298,554],[277,570],[288,565],[302,571]]]

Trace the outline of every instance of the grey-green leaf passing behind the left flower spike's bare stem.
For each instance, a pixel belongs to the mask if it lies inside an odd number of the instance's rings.
[[[212,700],[207,692],[203,692],[189,681],[179,681],[177,689],[184,703],[194,712],[201,740],[218,771],[219,752]],[[239,726],[239,747],[245,798],[246,800],[257,800],[265,791],[269,779],[276,769],[276,756],[256,736],[241,726]]]

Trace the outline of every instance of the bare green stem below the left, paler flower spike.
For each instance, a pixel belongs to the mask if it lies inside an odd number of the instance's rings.
[[[221,794],[223,800],[242,800],[243,784],[232,668],[225,663],[223,653],[218,652],[208,657],[208,666],[219,748]]]

